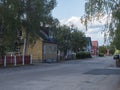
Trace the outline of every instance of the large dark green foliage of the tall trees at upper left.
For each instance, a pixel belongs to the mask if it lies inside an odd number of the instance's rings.
[[[52,26],[51,11],[56,0],[0,0],[0,30],[3,46],[14,45],[21,29],[25,37],[35,40],[41,27]]]

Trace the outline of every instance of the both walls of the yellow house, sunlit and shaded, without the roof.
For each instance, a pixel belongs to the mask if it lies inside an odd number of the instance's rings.
[[[27,54],[32,55],[33,62],[42,60],[57,60],[57,44],[43,42],[42,39],[36,41],[35,45],[29,45]]]

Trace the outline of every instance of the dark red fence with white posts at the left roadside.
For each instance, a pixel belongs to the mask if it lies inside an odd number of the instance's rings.
[[[2,56],[0,57],[0,65],[6,67],[7,65],[24,65],[32,64],[32,55],[13,55],[13,56]]]

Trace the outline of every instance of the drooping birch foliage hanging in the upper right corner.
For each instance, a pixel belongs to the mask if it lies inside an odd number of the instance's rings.
[[[120,0],[86,0],[85,12],[87,21],[107,15],[106,33],[109,33],[109,39],[115,47],[120,49],[120,42],[118,42],[120,36],[118,33],[120,32]]]

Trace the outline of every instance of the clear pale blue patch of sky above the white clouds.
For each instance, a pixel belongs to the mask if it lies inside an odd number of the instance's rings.
[[[84,14],[84,4],[85,0],[57,0],[53,16],[59,20],[72,16],[81,17]]]

